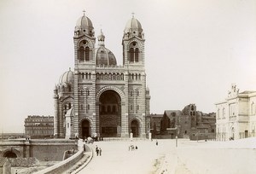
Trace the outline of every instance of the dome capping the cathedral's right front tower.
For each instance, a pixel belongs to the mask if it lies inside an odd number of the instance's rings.
[[[143,27],[139,20],[132,16],[131,20],[128,20],[124,31],[125,36],[130,38],[131,36],[137,36],[143,38]]]

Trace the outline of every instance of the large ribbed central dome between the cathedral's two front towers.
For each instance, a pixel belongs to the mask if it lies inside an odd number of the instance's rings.
[[[104,46],[100,46],[96,49],[96,65],[115,66],[115,56],[109,49],[106,49]]]

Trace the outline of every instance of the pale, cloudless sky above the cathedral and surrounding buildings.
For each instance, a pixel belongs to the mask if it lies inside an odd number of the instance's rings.
[[[254,0],[1,0],[0,131],[24,132],[28,115],[54,115],[53,90],[74,68],[83,10],[118,65],[126,22],[132,13],[141,22],[150,113],[190,103],[211,113],[231,84],[256,90]]]

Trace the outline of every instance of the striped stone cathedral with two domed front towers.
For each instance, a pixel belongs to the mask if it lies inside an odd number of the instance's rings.
[[[146,87],[145,38],[132,16],[122,38],[123,65],[97,36],[91,20],[81,16],[74,28],[74,70],[55,85],[54,135],[74,137],[146,137],[150,131]]]

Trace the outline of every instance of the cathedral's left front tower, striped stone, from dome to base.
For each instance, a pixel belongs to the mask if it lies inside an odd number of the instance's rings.
[[[84,120],[90,123],[91,131],[95,128],[90,118],[95,115],[96,59],[95,32],[91,20],[81,16],[74,29],[74,117],[73,132],[81,136]],[[84,122],[84,123],[85,123]],[[88,124],[87,124],[88,125]],[[87,127],[86,127],[87,129]]]

